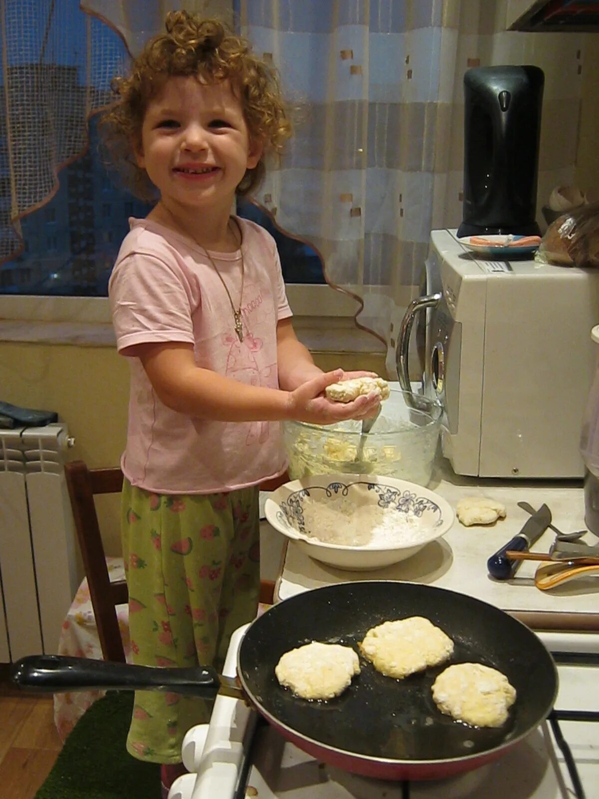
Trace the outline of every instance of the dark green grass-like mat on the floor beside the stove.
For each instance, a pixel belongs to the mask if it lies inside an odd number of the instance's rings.
[[[159,799],[160,766],[125,749],[132,691],[109,691],[65,741],[35,799]]]

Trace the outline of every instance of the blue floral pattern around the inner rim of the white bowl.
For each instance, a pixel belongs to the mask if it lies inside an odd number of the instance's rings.
[[[444,524],[441,508],[426,496],[419,496],[415,491],[398,489],[384,483],[367,483],[362,480],[354,483],[328,483],[327,486],[311,486],[294,491],[279,504],[276,514],[277,521],[288,529],[296,530],[303,535],[310,535],[306,530],[303,519],[303,500],[306,497],[313,499],[331,498],[334,495],[347,496],[352,488],[366,487],[378,496],[379,507],[387,507],[406,515],[422,518],[426,512],[432,514],[430,529],[441,527]]]

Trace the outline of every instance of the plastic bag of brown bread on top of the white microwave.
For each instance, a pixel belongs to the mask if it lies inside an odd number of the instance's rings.
[[[535,260],[541,264],[599,267],[599,202],[565,213],[549,225]]]

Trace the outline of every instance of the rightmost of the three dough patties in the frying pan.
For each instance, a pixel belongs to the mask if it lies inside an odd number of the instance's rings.
[[[482,663],[448,666],[432,690],[442,713],[473,727],[501,727],[516,701],[516,689],[506,675]]]

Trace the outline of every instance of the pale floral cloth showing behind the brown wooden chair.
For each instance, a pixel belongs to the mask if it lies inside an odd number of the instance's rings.
[[[110,580],[125,579],[122,558],[106,558]],[[129,646],[129,606],[117,606],[118,625],[125,647],[125,657],[130,662]],[[75,594],[73,604],[69,608],[62,624],[58,654],[74,658],[97,658],[101,660],[102,650],[97,636],[96,620],[93,618],[92,603],[89,599],[87,578]],[[105,691],[73,691],[66,694],[54,694],[54,724],[62,741],[65,741],[78,719],[85,713]]]

